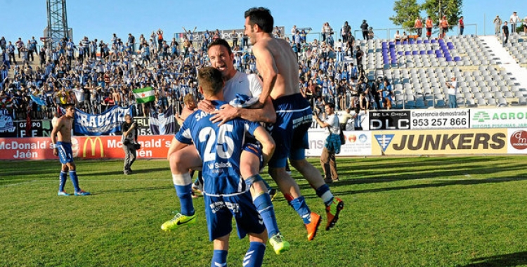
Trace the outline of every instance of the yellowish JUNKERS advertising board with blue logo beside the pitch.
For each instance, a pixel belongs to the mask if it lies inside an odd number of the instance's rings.
[[[507,154],[507,129],[373,131],[372,155]]]

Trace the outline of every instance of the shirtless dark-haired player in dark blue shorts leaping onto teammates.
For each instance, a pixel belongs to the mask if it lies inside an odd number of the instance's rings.
[[[268,163],[269,174],[289,204],[304,220],[308,240],[313,240],[320,225],[320,215],[309,210],[298,184],[285,171],[287,158],[324,201],[326,230],[330,230],[337,223],[344,202],[332,195],[320,171],[306,160],[307,131],[312,122],[312,110],[299,91],[297,57],[287,41],[273,37],[273,22],[271,11],[267,8],[250,8],[245,11],[245,35],[253,44],[256,67],[263,79],[259,103],[252,108],[260,108],[268,96],[271,96],[276,110],[276,122],[271,135],[277,148]]]

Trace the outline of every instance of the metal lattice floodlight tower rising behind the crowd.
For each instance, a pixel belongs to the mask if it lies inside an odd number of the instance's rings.
[[[46,0],[48,8],[48,27],[46,39],[51,45],[56,44],[63,37],[70,38],[67,27],[66,0]],[[46,44],[49,44],[46,42]]]

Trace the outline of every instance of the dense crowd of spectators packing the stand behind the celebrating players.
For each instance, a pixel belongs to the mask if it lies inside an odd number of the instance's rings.
[[[78,43],[61,39],[39,44],[32,37],[26,44],[21,38],[12,44],[2,37],[0,110],[13,119],[48,119],[65,103],[74,103],[91,114],[114,105],[132,105],[134,116],[148,116],[169,107],[177,114],[186,94],[202,99],[197,92],[197,70],[209,64],[207,44],[221,36],[219,30],[207,30],[196,41],[195,29],[183,30],[182,44],[175,38],[164,39],[161,29],[148,37],[141,34],[138,40],[132,34],[126,39],[113,34],[109,42],[84,37]],[[334,103],[336,110],[382,108],[379,90],[384,87],[382,82],[367,81],[360,64],[364,53],[356,46],[348,22],[339,31],[326,22],[320,41],[308,41],[309,31],[293,27],[291,34],[284,36],[276,27],[274,34],[289,41],[297,54],[299,87],[313,107]],[[336,41],[335,32],[339,35]],[[235,67],[241,72],[257,72],[247,37],[233,32],[230,41]],[[137,104],[132,90],[148,86],[155,90],[155,102]]]

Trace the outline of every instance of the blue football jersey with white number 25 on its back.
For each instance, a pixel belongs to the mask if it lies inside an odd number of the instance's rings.
[[[223,101],[212,101],[219,108]],[[240,155],[245,133],[251,136],[260,126],[257,122],[233,119],[218,126],[210,121],[212,114],[197,110],[189,115],[176,139],[181,143],[194,143],[203,162],[204,193],[207,195],[236,195],[247,188],[240,175]]]

